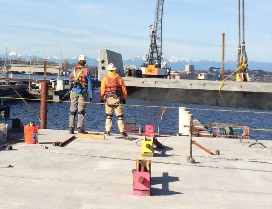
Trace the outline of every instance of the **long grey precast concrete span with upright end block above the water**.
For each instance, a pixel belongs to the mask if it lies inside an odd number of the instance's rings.
[[[221,81],[123,77],[121,54],[107,49],[100,49],[100,81],[109,63],[124,79],[129,99],[224,106]],[[272,110],[272,83],[225,81],[221,93],[227,107]]]

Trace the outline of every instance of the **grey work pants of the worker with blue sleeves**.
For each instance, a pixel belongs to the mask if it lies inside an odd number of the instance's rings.
[[[86,103],[82,102],[87,102],[88,101],[88,92],[82,93],[80,96],[79,94],[76,94],[75,92],[71,92],[70,94],[70,99],[71,99],[71,105],[70,105],[70,116],[69,116],[69,127],[74,127],[74,120],[75,120],[75,114],[77,111],[79,112],[78,114],[78,123],[77,123],[77,128],[82,128],[84,126],[84,111],[86,108]]]

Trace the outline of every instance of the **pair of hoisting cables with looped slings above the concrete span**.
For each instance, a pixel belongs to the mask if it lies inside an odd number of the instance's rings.
[[[241,28],[240,28],[240,0],[238,0],[238,36],[239,36],[239,45],[238,45],[238,56],[237,56],[237,68],[240,69],[239,73],[245,73],[248,71],[248,57],[245,51],[245,41],[244,41],[244,0],[242,0],[242,30],[243,30],[243,41],[242,41],[242,50],[241,50]]]

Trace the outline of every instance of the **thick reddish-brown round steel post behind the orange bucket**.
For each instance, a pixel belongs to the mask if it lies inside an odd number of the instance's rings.
[[[40,129],[46,129],[46,126],[47,126],[47,89],[48,89],[48,83],[41,82],[40,119],[43,123],[40,122]]]

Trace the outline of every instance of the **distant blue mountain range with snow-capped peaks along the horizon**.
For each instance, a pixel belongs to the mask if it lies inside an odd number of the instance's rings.
[[[5,58],[5,54],[0,54],[0,58]],[[34,55],[22,55],[17,51],[10,51],[7,53],[7,59],[17,59],[18,57],[32,59],[34,58]],[[42,57],[36,56],[36,60],[44,59]],[[86,57],[87,64],[89,66],[98,66],[98,60],[95,58],[89,58]],[[141,68],[141,65],[145,63],[146,56],[136,56],[132,59],[123,60],[123,65],[136,65],[137,68]],[[48,61],[53,62],[60,62],[60,58],[57,57],[47,57]],[[76,63],[78,60],[78,57],[73,58],[62,58],[62,62],[64,60],[67,60],[69,63]],[[177,58],[177,57],[170,57],[170,58],[164,58],[164,61],[167,61],[167,66],[171,66],[172,70],[184,70],[185,65],[193,65],[195,70],[208,70],[209,67],[218,67],[222,68],[221,62],[216,61],[209,61],[209,60],[198,60],[193,61],[188,58]],[[272,71],[272,63],[269,62],[255,62],[255,61],[248,61],[249,63],[249,69],[250,70],[264,70],[264,71]],[[225,61],[225,70],[235,70],[236,69],[236,61]]]

